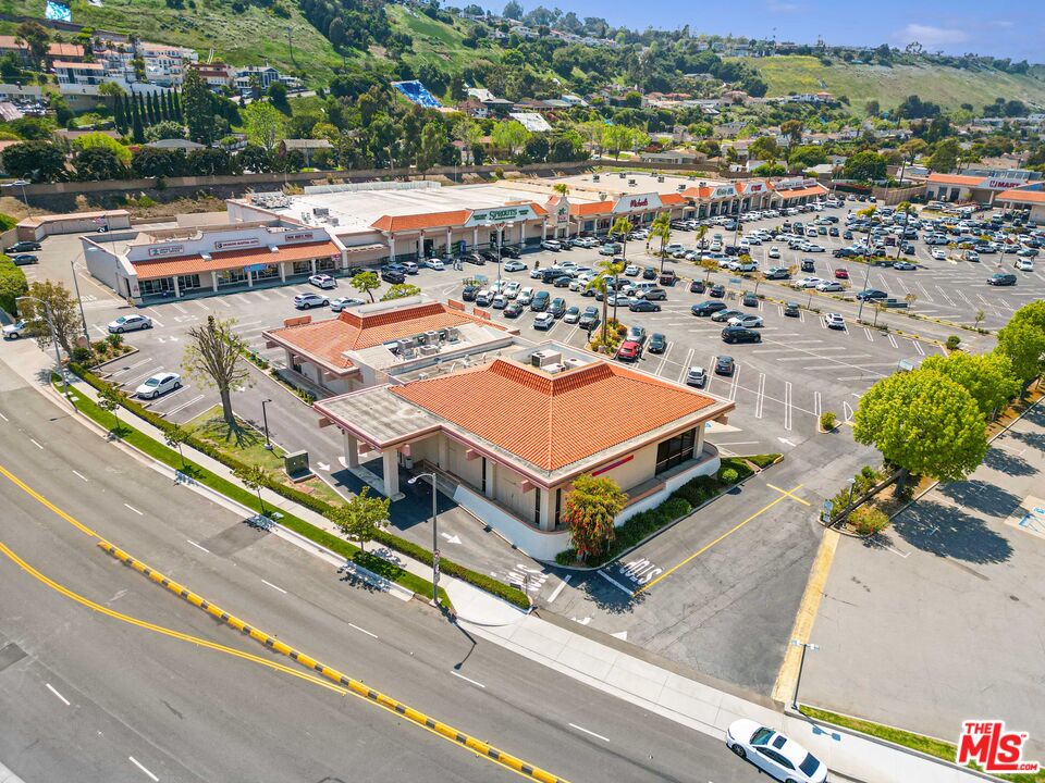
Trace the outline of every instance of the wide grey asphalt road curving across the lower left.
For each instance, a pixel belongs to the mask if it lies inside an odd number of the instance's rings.
[[[423,604],[343,581],[171,485],[5,366],[0,438],[10,474],[0,476],[0,712],[9,717],[0,759],[27,783],[516,774],[303,679],[287,659],[110,559],[95,536],[323,663],[565,779],[755,780],[712,737],[474,639]]]

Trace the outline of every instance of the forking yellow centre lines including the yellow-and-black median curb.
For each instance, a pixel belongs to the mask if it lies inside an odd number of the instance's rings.
[[[27,563],[25,560],[20,558],[14,551],[12,551],[2,542],[0,542],[0,554],[3,554],[9,560],[14,562],[19,568],[21,568],[27,574],[29,574],[37,581],[41,582],[42,584],[47,585],[51,589],[56,591],[57,593],[65,596],[66,598],[70,598],[71,600],[74,600],[77,604],[84,607],[87,607],[88,609],[91,609],[93,611],[99,612],[100,614],[104,614],[106,617],[112,618],[114,620],[119,620],[121,622],[125,622],[147,631],[152,631],[163,636],[169,636],[171,638],[176,638],[182,642],[188,642],[190,644],[194,644],[200,647],[206,647],[207,649],[211,649],[218,652],[224,652],[226,655],[231,655],[236,658],[250,661],[253,663],[259,663],[260,666],[265,666],[265,667],[268,667],[269,669],[273,669],[275,671],[281,671],[286,674],[291,674],[300,680],[310,682],[314,685],[320,685],[321,687],[328,688],[330,691],[333,691],[342,695],[351,694],[370,704],[377,705],[378,707],[386,710],[388,712],[399,716],[402,718],[406,718],[407,720],[420,726],[421,729],[428,731],[429,733],[434,734],[435,736],[439,736],[440,738],[445,739],[446,742],[451,742],[454,745],[464,747],[469,751],[474,753],[477,757],[483,758],[488,761],[492,761],[493,763],[496,763],[503,767],[504,769],[511,770],[512,772],[515,772],[524,778],[528,778],[534,781],[540,781],[540,783],[568,783],[563,778],[552,774],[551,772],[548,772],[541,769],[540,767],[528,763],[522,759],[517,758],[516,756],[507,754],[501,750],[500,748],[496,748],[493,745],[490,745],[489,743],[484,743],[481,739],[477,739],[470,734],[460,732],[446,723],[437,721],[433,718],[430,718],[429,716],[425,714],[423,712],[415,710],[408,705],[405,705],[402,701],[392,698],[391,696],[386,696],[385,694],[382,694],[379,691],[374,691],[373,688],[369,687],[365,683],[361,683],[358,680],[353,680],[352,678],[346,676],[345,674],[342,674],[336,669],[332,669],[328,666],[324,666],[319,661],[315,660],[314,658],[305,655],[304,652],[300,652],[299,650],[291,647],[290,645],[284,644],[283,642],[280,642],[274,636],[267,634],[263,631],[259,631],[258,629],[253,627],[251,625],[248,625],[243,620],[236,618],[233,614],[230,614],[229,612],[224,611],[220,607],[214,606],[210,601],[205,600],[202,597],[193,593],[192,591],[184,587],[183,585],[169,580],[163,574],[155,571],[153,569],[149,568],[148,566],[140,562],[139,560],[136,560],[135,558],[131,557],[122,549],[104,540],[96,532],[94,532],[86,525],[82,524],[79,521],[77,521],[75,518],[73,518],[69,513],[62,511],[60,508],[54,506],[47,498],[45,498],[42,495],[37,493],[32,487],[29,487],[27,484],[25,484],[22,480],[20,480],[17,476],[15,476],[13,473],[8,471],[2,465],[0,465],[0,475],[3,475],[7,478],[9,478],[20,489],[25,492],[27,495],[33,497],[35,500],[40,502],[50,511],[53,511],[64,521],[69,522],[70,524],[78,529],[81,532],[85,533],[86,535],[89,535],[93,538],[96,538],[97,546],[100,547],[106,552],[108,552],[109,555],[111,555],[112,557],[114,557],[115,559],[133,568],[135,571],[138,571],[139,573],[148,576],[152,582],[156,582],[157,584],[162,585],[170,592],[187,600],[193,606],[196,606],[202,609],[204,611],[221,620],[222,622],[226,623],[228,625],[235,629],[236,631],[239,631],[241,633],[259,642],[260,644],[265,645],[268,649],[291,658],[292,660],[296,661],[298,664],[305,667],[306,669],[318,672],[321,676],[306,673],[300,671],[299,669],[284,666],[282,663],[278,663],[276,661],[268,660],[266,658],[261,658],[259,656],[255,656],[249,652],[244,652],[243,650],[237,650],[233,647],[228,647],[225,645],[217,644],[214,642],[209,642],[198,636],[184,634],[184,633],[181,633],[180,631],[174,631],[172,629],[168,629],[162,625],[157,625],[156,623],[150,623],[145,620],[138,620],[137,618],[131,617],[128,614],[118,612],[113,609],[110,609],[109,607],[102,606],[96,601],[90,600],[89,598],[86,598],[85,596],[79,595],[78,593],[75,593],[69,589],[67,587],[59,584],[58,582],[50,579],[46,574],[37,571],[29,563]]]

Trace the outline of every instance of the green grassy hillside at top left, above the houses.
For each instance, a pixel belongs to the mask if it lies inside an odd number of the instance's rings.
[[[86,0],[72,0],[73,22],[192,47],[201,60],[206,60],[213,48],[216,58],[233,65],[268,61],[286,73],[305,71],[309,82],[329,80],[331,67],[341,63],[330,41],[305,20],[295,2],[282,5],[290,14],[284,18],[249,3],[242,13],[236,12],[230,0],[193,0],[195,10],[187,0],[184,10],[170,8],[164,0],[102,1],[103,4],[97,7]],[[44,0],[7,0],[4,11],[40,16]],[[0,23],[0,30],[4,33],[12,33],[14,27],[12,23]],[[293,57],[287,27],[294,42]]]

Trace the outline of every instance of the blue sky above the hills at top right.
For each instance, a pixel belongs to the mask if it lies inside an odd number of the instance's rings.
[[[541,4],[521,2],[527,10]],[[828,44],[887,42],[901,48],[918,40],[931,51],[1045,62],[1043,0],[544,0],[543,4],[628,27],[671,29],[688,23],[697,33],[772,37],[775,30],[777,40],[814,44],[820,35]]]

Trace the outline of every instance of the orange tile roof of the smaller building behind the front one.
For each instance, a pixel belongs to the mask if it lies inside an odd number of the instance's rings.
[[[478,319],[440,302],[432,302],[369,314],[344,310],[335,319],[272,330],[265,334],[266,337],[291,350],[298,350],[320,359],[330,366],[345,369],[353,364],[342,356],[344,351],[372,348],[382,343],[410,337],[429,330],[469,323],[503,328],[485,319]]]

